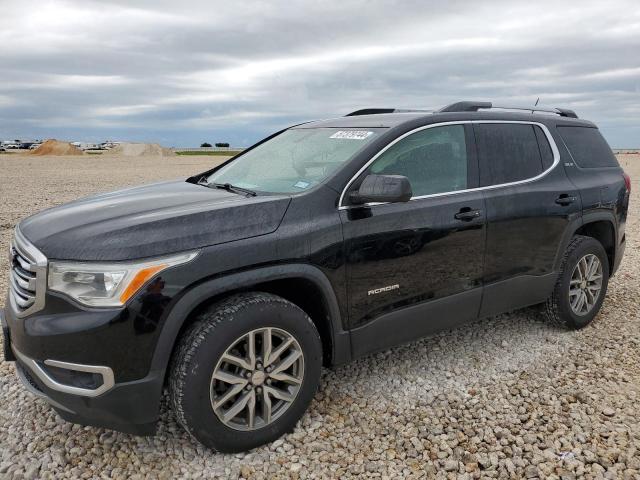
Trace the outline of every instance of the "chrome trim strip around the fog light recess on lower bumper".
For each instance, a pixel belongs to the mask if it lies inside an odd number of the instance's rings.
[[[65,368],[67,370],[76,370],[79,372],[97,373],[102,377],[102,385],[98,388],[81,388],[71,385],[65,385],[60,383],[51,376],[36,362],[34,359],[27,357],[24,353],[20,352],[16,347],[11,345],[13,353],[16,357],[26,365],[47,387],[51,390],[58,392],[68,393],[71,395],[81,395],[83,397],[97,397],[102,395],[107,390],[110,390],[115,385],[113,377],[113,370],[109,367],[103,367],[99,365],[82,365],[79,363],[60,362],[58,360],[45,360],[45,365],[51,365],[52,367]]]

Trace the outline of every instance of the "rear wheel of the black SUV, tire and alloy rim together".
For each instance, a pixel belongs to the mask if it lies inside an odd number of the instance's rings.
[[[600,311],[609,283],[609,261],[596,239],[575,236],[564,254],[547,317],[572,329],[587,326]]]

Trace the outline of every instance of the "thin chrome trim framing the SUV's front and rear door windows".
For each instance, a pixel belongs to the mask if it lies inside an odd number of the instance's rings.
[[[396,138],[395,140],[387,144],[382,150],[376,153],[371,158],[371,160],[365,163],[364,166],[360,168],[360,170],[358,170],[353,177],[351,177],[351,180],[347,182],[347,185],[342,190],[342,193],[340,194],[340,199],[338,200],[338,210],[346,210],[354,207],[363,207],[363,206],[372,207],[375,205],[386,205],[388,203],[388,202],[371,202],[371,203],[365,203],[363,205],[343,205],[344,197],[347,193],[347,190],[349,190],[349,187],[351,186],[351,184],[362,174],[362,172],[364,172],[369,167],[369,165],[375,162],[380,155],[382,155],[384,152],[386,152],[389,148],[391,148],[393,145],[395,145],[399,141],[403,140],[409,135],[413,135],[414,133],[420,132],[422,130],[426,130],[428,128],[443,127],[448,125],[465,125],[465,124],[480,124],[480,123],[515,123],[515,124],[522,124],[522,125],[537,125],[542,129],[545,136],[547,137],[547,141],[549,142],[549,145],[551,146],[551,151],[553,152],[553,163],[549,168],[539,173],[535,177],[525,178],[524,180],[517,180],[515,182],[500,183],[497,185],[487,185],[485,187],[475,187],[475,188],[467,188],[464,190],[453,190],[450,192],[432,193],[429,195],[419,195],[419,196],[411,197],[411,199],[409,200],[410,202],[414,200],[421,200],[423,198],[444,197],[447,195],[457,195],[460,193],[468,193],[468,192],[479,192],[482,190],[493,190],[495,188],[511,187],[514,185],[522,185],[529,182],[535,182],[536,180],[539,180],[542,177],[545,177],[546,175],[548,175],[560,163],[560,151],[558,150],[558,146],[556,145],[555,140],[551,136],[551,132],[549,132],[549,129],[547,128],[547,126],[540,122],[533,122],[533,121],[527,121],[527,120],[459,120],[459,121],[453,121],[453,122],[432,123],[430,125],[424,125],[422,127],[415,128],[413,130],[410,130],[407,133],[400,135],[398,138]]]

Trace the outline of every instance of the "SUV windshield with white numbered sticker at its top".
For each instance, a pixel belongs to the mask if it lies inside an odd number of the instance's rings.
[[[212,173],[207,182],[267,193],[297,193],[326,179],[381,128],[294,128]]]

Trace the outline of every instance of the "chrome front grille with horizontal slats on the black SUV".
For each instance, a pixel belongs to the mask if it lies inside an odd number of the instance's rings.
[[[19,317],[44,307],[47,259],[16,228],[9,247],[9,298]]]

